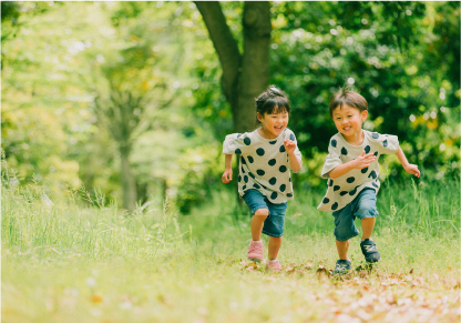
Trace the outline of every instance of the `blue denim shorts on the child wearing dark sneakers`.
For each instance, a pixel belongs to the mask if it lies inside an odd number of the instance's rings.
[[[376,191],[373,189],[363,189],[360,193],[341,210],[332,212],[335,216],[335,236],[338,241],[346,241],[359,235],[356,218],[362,220],[365,218],[376,218],[378,215],[376,209]]]

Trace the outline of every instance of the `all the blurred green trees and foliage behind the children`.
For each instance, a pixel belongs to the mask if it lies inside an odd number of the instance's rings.
[[[291,101],[288,127],[305,159],[294,175],[298,194],[324,190],[319,173],[336,132],[328,102],[342,85],[368,100],[365,129],[399,137],[419,181],[459,181],[459,6],[268,4],[264,85]],[[221,8],[243,52],[245,3]],[[102,192],[129,210],[167,199],[183,214],[213,191],[235,193],[221,182],[221,150],[238,124],[194,2],[1,2],[1,148],[19,185],[39,182],[51,200]],[[397,163],[388,157],[380,176],[408,180]]]

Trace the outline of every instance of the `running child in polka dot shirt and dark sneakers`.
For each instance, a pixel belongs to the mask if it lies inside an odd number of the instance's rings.
[[[378,159],[396,153],[403,169],[420,176],[417,165],[407,161],[396,135],[362,130],[368,115],[368,103],[362,95],[341,89],[330,101],[330,117],[338,133],[331,137],[321,178],[328,179],[327,194],[318,210],[332,212],[335,238],[339,260],[334,274],[346,273],[351,263],[348,258],[349,239],[359,234],[354,220],[361,220],[360,248],[367,262],[381,259],[371,240],[376,216],[376,194],[379,191]]]

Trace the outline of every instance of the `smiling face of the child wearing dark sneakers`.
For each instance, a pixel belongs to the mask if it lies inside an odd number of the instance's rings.
[[[367,119],[368,111],[361,111],[357,108],[351,108],[347,104],[342,104],[342,109],[338,105],[332,111],[332,121],[336,129],[346,139],[356,140],[361,134],[361,124]]]

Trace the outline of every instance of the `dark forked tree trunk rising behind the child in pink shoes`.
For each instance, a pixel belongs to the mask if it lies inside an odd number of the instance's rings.
[[[221,85],[230,103],[234,130],[252,131],[256,121],[255,99],[269,82],[270,4],[248,1],[244,4],[244,53],[233,38],[216,1],[196,1],[223,68]]]

